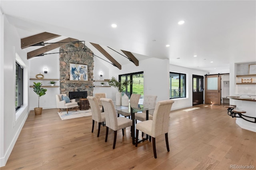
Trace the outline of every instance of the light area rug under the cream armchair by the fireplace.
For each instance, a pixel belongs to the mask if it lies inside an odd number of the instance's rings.
[[[61,120],[66,120],[66,119],[74,119],[78,117],[86,117],[86,116],[92,116],[92,111],[91,109],[85,110],[85,111],[63,111],[63,112],[58,112],[60,119]]]

